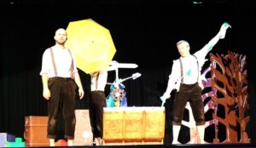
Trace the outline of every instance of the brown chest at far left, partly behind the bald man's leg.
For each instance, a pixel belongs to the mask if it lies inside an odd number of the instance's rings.
[[[49,146],[47,136],[48,117],[25,117],[24,139],[26,146]]]

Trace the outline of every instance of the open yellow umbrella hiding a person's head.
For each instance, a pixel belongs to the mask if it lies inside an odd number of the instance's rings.
[[[88,74],[108,68],[116,52],[108,29],[91,19],[69,22],[65,45],[73,50],[77,67]]]

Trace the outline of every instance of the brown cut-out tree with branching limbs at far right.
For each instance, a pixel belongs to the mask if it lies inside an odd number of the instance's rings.
[[[249,116],[247,101],[247,71],[245,70],[246,56],[228,51],[227,55],[210,54],[211,83],[214,113],[212,118],[215,124],[215,139],[219,143],[218,123],[224,124],[226,139],[223,143],[248,143],[246,127]],[[218,116],[218,107],[223,106],[224,112]],[[239,130],[238,130],[239,129]],[[240,134],[240,136],[238,136]],[[240,137],[240,139],[239,139]]]

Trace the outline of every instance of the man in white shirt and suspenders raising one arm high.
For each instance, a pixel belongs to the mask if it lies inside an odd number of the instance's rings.
[[[172,89],[177,89],[174,100],[174,117],[173,117],[173,140],[172,144],[179,144],[177,141],[181,122],[183,119],[183,111],[187,101],[191,105],[193,116],[195,117],[196,128],[198,130],[201,144],[204,144],[205,133],[205,117],[204,105],[201,99],[201,67],[205,63],[205,58],[212,47],[218,43],[219,39],[223,39],[226,30],[230,27],[228,23],[224,23],[218,34],[212,38],[201,50],[195,54],[189,53],[189,43],[181,40],[177,42],[177,50],[181,57],[173,60],[172,73],[169,76],[166,92],[161,96],[161,100],[171,97]]]

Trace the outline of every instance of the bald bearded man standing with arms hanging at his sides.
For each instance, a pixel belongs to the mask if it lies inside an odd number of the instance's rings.
[[[79,98],[84,97],[84,89],[75,65],[73,53],[65,48],[67,32],[60,28],[55,31],[55,46],[47,48],[43,54],[40,75],[43,82],[43,96],[48,100],[49,145],[55,145],[56,129],[59,113],[63,113],[65,121],[65,138],[67,145],[73,145],[76,89],[79,87]]]

